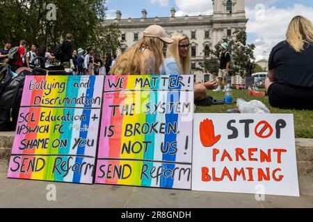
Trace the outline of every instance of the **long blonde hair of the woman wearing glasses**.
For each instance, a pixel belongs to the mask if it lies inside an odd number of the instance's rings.
[[[180,74],[191,74],[191,52],[190,47],[188,48],[187,55],[185,58],[180,58],[179,56],[179,42],[182,40],[188,40],[190,43],[189,37],[184,33],[176,33],[171,37],[174,42],[168,46],[168,51],[166,53],[166,58],[175,58],[179,73]]]

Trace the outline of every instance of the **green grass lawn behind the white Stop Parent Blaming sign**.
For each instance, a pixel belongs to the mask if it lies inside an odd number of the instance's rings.
[[[224,99],[224,93],[220,92],[209,92],[209,95],[213,96],[214,99]],[[264,103],[271,113],[285,113],[294,114],[294,124],[296,130],[296,138],[313,138],[313,111],[310,110],[280,110],[272,108],[268,103],[268,97],[255,97],[248,96],[248,90],[233,90],[234,101],[236,99],[244,99],[246,101],[259,100]],[[236,108],[236,103],[232,105],[212,105],[211,107],[197,107],[195,112],[197,113],[227,113],[227,110]]]

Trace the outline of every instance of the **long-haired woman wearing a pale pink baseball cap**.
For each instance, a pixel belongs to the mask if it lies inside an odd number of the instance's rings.
[[[160,74],[163,63],[163,49],[172,44],[161,26],[149,26],[143,33],[143,39],[119,56],[112,67],[112,75],[152,75]]]

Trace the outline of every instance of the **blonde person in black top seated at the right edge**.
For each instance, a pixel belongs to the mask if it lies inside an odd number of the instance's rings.
[[[291,20],[287,39],[268,60],[265,88],[276,108],[313,110],[313,26],[305,17]]]

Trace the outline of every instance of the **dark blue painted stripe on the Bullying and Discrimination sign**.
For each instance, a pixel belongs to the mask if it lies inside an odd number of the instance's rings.
[[[90,88],[87,89],[86,92],[86,99],[93,98],[94,93],[94,85],[95,85],[95,76],[89,76],[90,79]],[[85,105],[85,108],[92,108],[93,105]],[[89,121],[90,121],[90,112],[91,110],[83,110],[83,114],[86,115],[86,120],[81,121],[81,128],[89,128]],[[81,139],[87,139],[88,131],[82,130],[81,133],[79,133],[79,138]],[[83,155],[85,153],[85,147],[86,146],[78,146],[77,148],[77,155]],[[83,158],[76,158],[76,163],[81,165],[83,162]],[[79,171],[74,173],[73,182],[81,182],[81,173]]]

